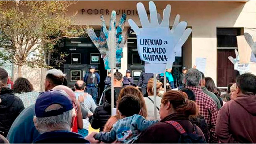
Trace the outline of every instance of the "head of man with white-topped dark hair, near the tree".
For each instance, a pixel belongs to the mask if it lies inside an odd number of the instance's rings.
[[[62,85],[64,81],[65,74],[61,70],[51,69],[46,73],[44,80],[44,89],[45,91],[51,90],[57,85]]]

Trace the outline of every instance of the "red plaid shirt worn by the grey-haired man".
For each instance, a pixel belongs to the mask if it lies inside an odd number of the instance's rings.
[[[186,86],[190,88],[196,96],[196,104],[199,106],[200,115],[204,116],[209,130],[209,143],[218,143],[215,132],[215,125],[218,116],[218,110],[214,100],[206,95],[200,87]]]

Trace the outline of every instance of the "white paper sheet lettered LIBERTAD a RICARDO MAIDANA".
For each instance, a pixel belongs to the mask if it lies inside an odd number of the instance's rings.
[[[159,35],[161,34],[161,35]],[[141,60],[149,63],[167,63],[174,55],[173,37],[166,32],[166,28],[144,28],[137,35],[138,53]]]

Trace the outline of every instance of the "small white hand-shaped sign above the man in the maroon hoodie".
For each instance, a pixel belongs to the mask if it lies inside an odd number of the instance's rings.
[[[239,54],[235,49],[236,58],[234,59],[232,56],[229,56],[228,59],[234,64],[234,69],[237,70],[240,75],[248,72],[250,70],[249,64],[240,63],[239,62]]]

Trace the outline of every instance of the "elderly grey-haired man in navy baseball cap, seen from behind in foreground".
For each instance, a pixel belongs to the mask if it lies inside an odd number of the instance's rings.
[[[62,90],[41,93],[35,104],[34,124],[41,133],[33,143],[89,143],[71,132],[75,109],[72,100]]]

